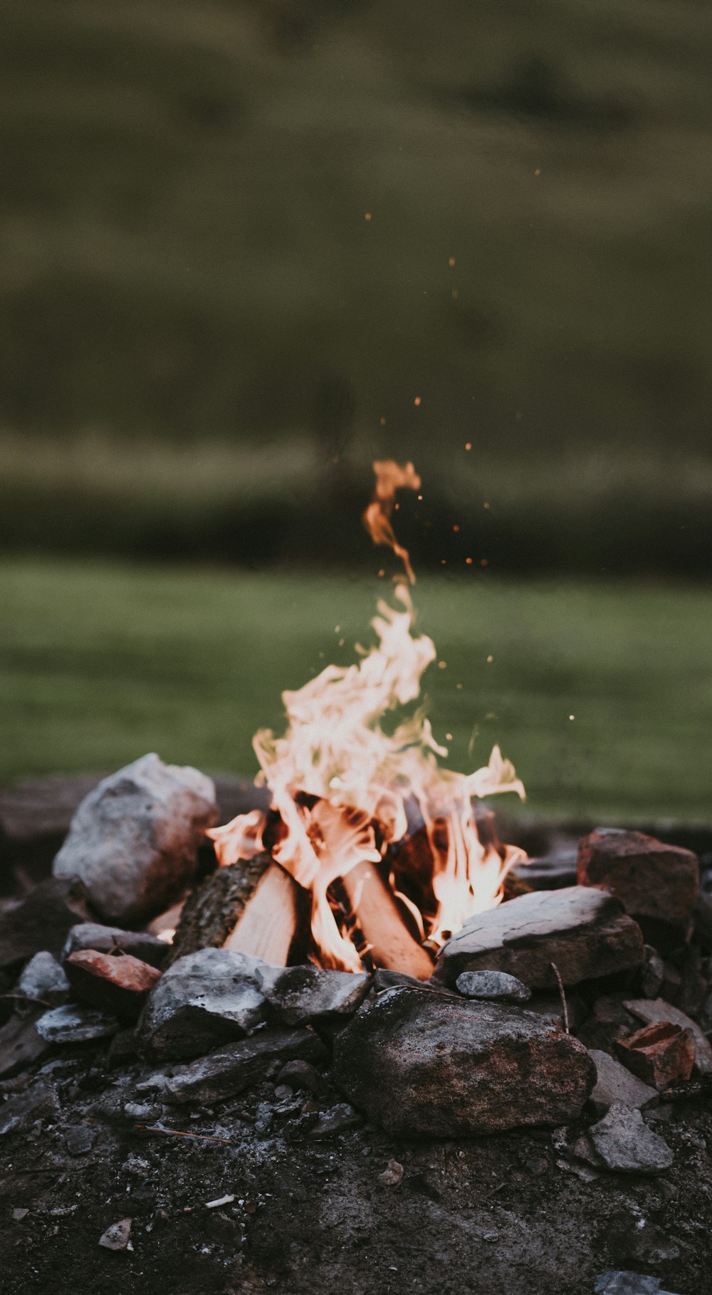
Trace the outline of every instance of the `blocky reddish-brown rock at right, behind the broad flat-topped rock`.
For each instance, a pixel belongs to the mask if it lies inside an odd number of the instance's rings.
[[[687,938],[699,890],[695,855],[642,831],[599,828],[579,846],[579,884],[607,890],[652,943],[660,930]]]

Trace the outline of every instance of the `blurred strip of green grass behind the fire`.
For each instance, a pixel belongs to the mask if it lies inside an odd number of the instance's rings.
[[[280,725],[281,690],[351,660],[382,592],[377,579],[5,559],[0,778],[148,750],[251,774],[251,734]],[[423,578],[416,602],[447,663],[426,693],[453,767],[500,742],[536,816],[709,821],[707,589],[478,571]]]

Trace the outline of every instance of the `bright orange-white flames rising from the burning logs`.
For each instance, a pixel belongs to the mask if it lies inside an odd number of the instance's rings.
[[[419,490],[421,479],[412,464],[377,462],[374,470],[375,495],[364,519],[374,543],[388,544],[413,581],[390,514],[396,488]],[[361,970],[362,961],[329,890],[357,865],[377,865],[409,926],[435,948],[469,917],[498,904],[507,872],[526,859],[510,846],[485,846],[478,835],[473,798],[502,791],[524,798],[500,749],[484,768],[456,773],[438,763],[448,751],[435,741],[423,710],[403,715],[403,707],[417,702],[436,651],[427,635],[413,632],[404,581],[395,598],[396,606],[378,602],[372,620],[377,642],[369,651],[359,649],[359,662],[328,666],[303,688],[282,693],[282,737],[269,729],[255,734],[258,781],[272,793],[269,815],[238,815],[208,833],[221,865],[269,848],[311,894],[315,961],[347,971]],[[401,855],[418,829],[427,848],[409,873]]]

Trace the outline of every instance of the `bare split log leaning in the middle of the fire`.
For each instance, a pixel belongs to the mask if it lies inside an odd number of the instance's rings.
[[[373,864],[356,864],[342,884],[375,965],[428,980],[430,956],[404,926],[394,894],[378,869]]]

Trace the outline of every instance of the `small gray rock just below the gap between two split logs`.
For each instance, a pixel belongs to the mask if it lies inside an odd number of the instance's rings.
[[[352,971],[324,971],[321,967],[256,969],[264,997],[286,1026],[307,1026],[318,1020],[352,1017],[369,989],[369,978]]]

